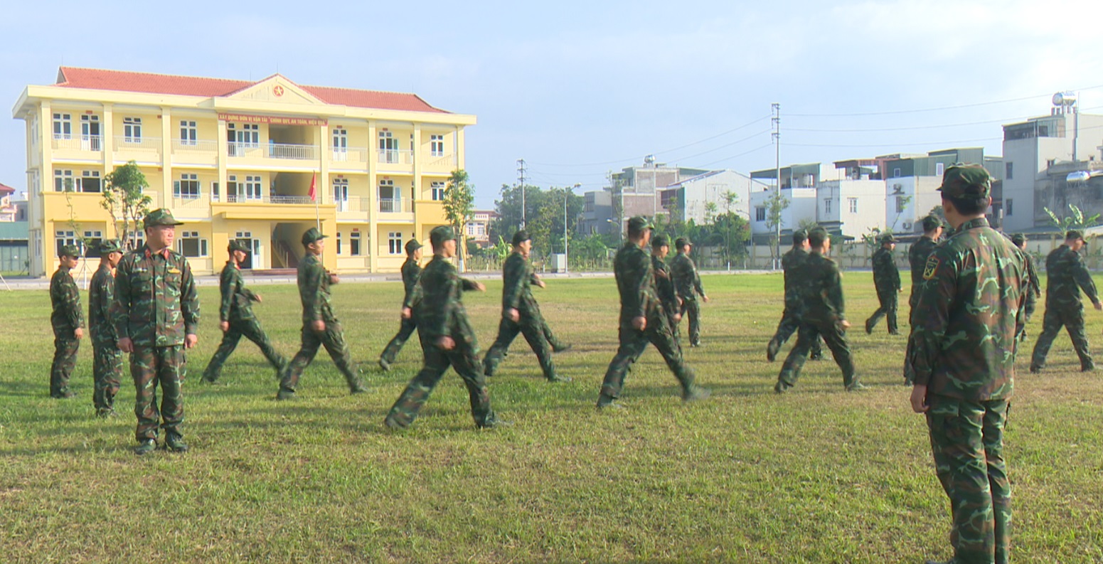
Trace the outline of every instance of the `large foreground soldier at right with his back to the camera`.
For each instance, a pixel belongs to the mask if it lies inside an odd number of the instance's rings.
[[[953,564],[1010,561],[1003,435],[1026,269],[984,216],[989,187],[979,164],[955,164],[943,174],[942,207],[954,235],[927,259],[909,338],[911,407],[927,415],[935,472],[950,498]]]

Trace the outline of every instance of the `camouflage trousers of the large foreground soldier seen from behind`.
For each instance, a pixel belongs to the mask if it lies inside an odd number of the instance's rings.
[[[1004,460],[1006,400],[965,402],[930,396],[931,451],[950,498],[954,564],[1007,564],[1011,486]]]

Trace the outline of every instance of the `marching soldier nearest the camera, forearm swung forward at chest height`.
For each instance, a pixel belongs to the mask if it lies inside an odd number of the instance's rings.
[[[468,389],[475,426],[493,428],[508,425],[499,419],[490,406],[490,392],[479,362],[479,343],[463,308],[464,290],[483,291],[486,288],[476,281],[460,278],[452,266],[450,259],[456,256],[456,234],[451,227],[433,227],[429,232],[429,242],[433,256],[421,272],[418,304],[414,308],[425,364],[398,396],[383,423],[393,429],[410,426],[448,366],[452,366]]]

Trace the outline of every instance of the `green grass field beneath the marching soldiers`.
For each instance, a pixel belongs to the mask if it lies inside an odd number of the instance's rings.
[[[907,276],[904,276],[907,278]],[[445,376],[414,426],[383,417],[420,368],[416,339],[396,368],[375,360],[398,328],[397,283],[342,285],[335,307],[373,393],[350,396],[319,354],[293,402],[243,342],[225,386],[199,375],[218,343],[217,289],[202,288],[200,344],[185,385],[186,454],[137,457],[133,389],[120,417],[92,407],[92,350],[82,343],[75,400],[49,397],[49,295],[0,295],[0,562],[770,562],[919,563],[950,555],[949,503],[923,418],[901,385],[904,337],[884,322],[850,331],[871,390],[843,391],[831,361],[772,392],[764,359],[781,313],[780,275],[707,276],[706,348],[686,349],[704,403],[683,405],[649,350],[629,375],[628,409],[593,403],[617,345],[612,279],[536,289],[575,348],[546,384],[524,341],[491,380],[516,425],[474,428],[465,391]],[[845,277],[858,328],[876,308],[868,273]],[[290,286],[259,286],[258,316],[286,354],[299,343]],[[480,344],[497,327],[501,283],[469,294]],[[901,320],[907,317],[902,295]],[[1101,343],[1103,313],[1089,308]],[[1029,327],[1040,331],[1041,311]],[[1103,373],[1081,374],[1067,336],[1042,375],[1019,360],[1006,435],[1015,485],[1016,562],[1103,562]]]

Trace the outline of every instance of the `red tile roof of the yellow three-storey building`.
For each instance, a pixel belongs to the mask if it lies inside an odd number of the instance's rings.
[[[57,71],[56,86],[212,98],[228,96],[266,79],[268,78],[257,82],[231,81],[226,78],[63,66]],[[430,106],[416,94],[357,91],[329,86],[299,85],[299,87],[326,104],[339,106],[447,114],[442,109]]]

